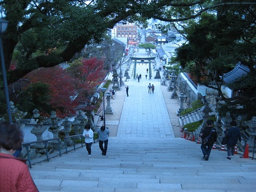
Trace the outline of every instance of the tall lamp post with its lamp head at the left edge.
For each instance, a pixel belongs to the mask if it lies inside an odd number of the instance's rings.
[[[8,86],[7,86],[5,58],[4,58],[3,41],[2,41],[2,36],[7,29],[8,23],[9,22],[7,20],[0,19],[0,56],[1,56],[2,73],[3,73],[3,79],[4,79],[8,118],[9,118],[9,123],[12,124],[13,122],[12,122],[11,106],[10,106],[9,92],[8,92]]]

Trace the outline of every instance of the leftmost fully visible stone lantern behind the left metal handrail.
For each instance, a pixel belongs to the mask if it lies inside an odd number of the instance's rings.
[[[42,139],[42,134],[46,131],[46,127],[42,126],[42,119],[44,117],[41,117],[39,114],[39,111],[37,109],[33,110],[33,117],[31,118],[30,124],[33,124],[34,127],[30,131],[30,133],[34,134],[36,136],[36,141],[41,141]],[[42,149],[45,148],[44,143],[36,143],[34,145],[35,148]]]

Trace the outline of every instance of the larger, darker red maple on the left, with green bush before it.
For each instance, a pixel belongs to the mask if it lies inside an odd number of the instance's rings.
[[[77,105],[72,97],[76,94],[74,82],[67,70],[60,66],[53,68],[39,68],[25,76],[30,81],[28,89],[21,95],[20,105],[27,105],[24,100],[31,100],[30,108],[36,108],[41,115],[49,116],[56,111],[58,117],[74,114],[74,106]],[[38,101],[39,100],[39,101]],[[24,104],[23,104],[24,103]],[[28,109],[31,110],[33,109]]]

